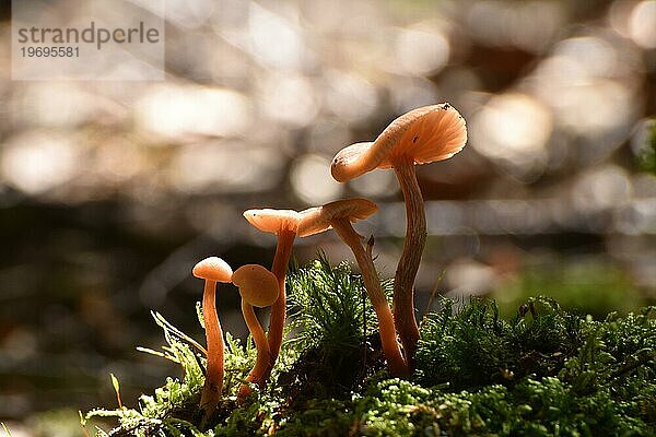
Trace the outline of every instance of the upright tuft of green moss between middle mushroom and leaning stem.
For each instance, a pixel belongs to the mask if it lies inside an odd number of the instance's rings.
[[[294,403],[313,398],[350,397],[364,377],[383,369],[376,316],[360,277],[343,262],[335,268],[320,256],[296,269],[290,284],[290,329],[285,351],[298,359],[281,375]],[[391,283],[383,283],[391,295]]]

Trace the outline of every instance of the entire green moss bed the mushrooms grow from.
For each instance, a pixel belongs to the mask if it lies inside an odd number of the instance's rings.
[[[289,281],[295,338],[271,381],[238,406],[253,365],[250,341],[227,335],[224,401],[199,423],[204,357],[191,339],[155,315],[180,364],[113,436],[648,436],[656,433],[656,308],[604,320],[529,299],[511,318],[493,300],[442,302],[421,323],[411,380],[389,378],[360,280],[325,258]],[[368,320],[365,322],[365,320]],[[98,430],[98,435],[106,435]]]

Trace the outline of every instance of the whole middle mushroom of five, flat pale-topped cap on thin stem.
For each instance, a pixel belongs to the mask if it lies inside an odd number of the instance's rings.
[[[244,212],[244,217],[259,231],[272,233],[278,236],[271,272],[278,279],[280,296],[271,307],[271,319],[269,321],[268,341],[270,356],[267,369],[267,374],[269,374],[276,364],[276,359],[280,353],[280,345],[282,344],[282,332],[286,314],[284,280],[301,215],[293,210],[263,209],[248,210]]]

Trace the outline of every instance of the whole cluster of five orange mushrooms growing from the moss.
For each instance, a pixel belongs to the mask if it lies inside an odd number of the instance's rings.
[[[202,314],[207,334],[207,373],[200,408],[211,415],[221,399],[223,386],[223,333],[216,315],[216,282],[232,282],[242,296],[242,311],[257,347],[257,358],[238,399],[250,393],[249,385],[262,387],[280,353],[285,321],[284,282],[296,237],[328,229],[351,248],[378,319],[387,367],[393,376],[408,377],[414,367],[419,329],[414,317],[414,277],[426,239],[426,217],[414,166],[449,158],[467,142],[465,119],[449,104],[424,106],[394,120],[373,142],[342,149],[332,161],[332,177],[345,182],[375,168],[394,168],[406,202],[407,232],[395,281],[393,309],[383,293],[372,248],[353,229],[352,223],[374,214],[378,208],[367,199],[345,199],[297,212],[293,210],[248,210],[246,220],[261,232],[276,234],[278,244],[271,270],[246,264],[232,271],[220,258],[211,257],[194,268],[206,281]],[[269,332],[265,333],[254,307],[271,306]],[[397,334],[400,344],[397,341]]]

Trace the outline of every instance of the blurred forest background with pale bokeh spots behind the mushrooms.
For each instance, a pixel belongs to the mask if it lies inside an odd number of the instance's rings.
[[[469,142],[418,172],[420,316],[432,293],[490,295],[506,312],[547,294],[595,317],[655,302],[656,177],[640,156],[656,113],[656,1],[166,5],[164,82],[11,81],[1,7],[0,420],[14,436],[79,434],[78,410],[115,404],[109,373],[130,405],[175,376],[134,350],[163,343],[149,311],[203,339],[191,267],[272,260],[276,238],[246,209],[371,198],[380,212],[356,227],[394,276],[394,174],[341,185],[329,164],[427,104],[452,103]],[[351,260],[330,233],[294,256],[319,247]],[[222,287],[224,328],[243,336],[237,309]]]

